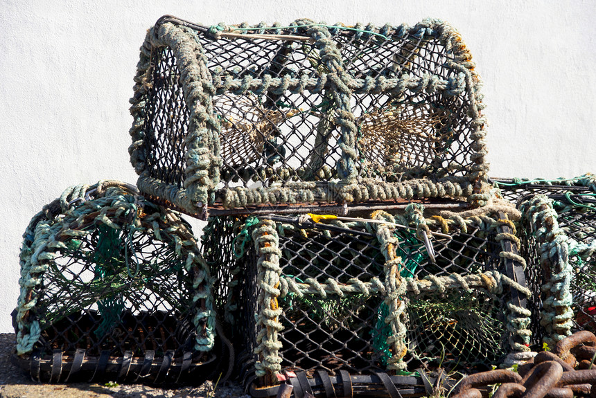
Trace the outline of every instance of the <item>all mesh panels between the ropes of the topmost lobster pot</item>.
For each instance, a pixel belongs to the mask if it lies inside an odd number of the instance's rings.
[[[266,30],[265,30],[266,32]],[[344,69],[352,78],[434,75],[453,79],[453,57],[436,37],[421,39],[391,30],[389,39],[332,31]],[[286,35],[306,35],[281,30]],[[319,78],[328,73],[311,42],[195,36],[214,81],[227,79]],[[152,87],[146,93],[144,152],[150,177],[181,188],[186,168],[184,138],[189,109],[177,60],[169,47],[152,48]],[[274,181],[338,179],[342,156],[335,93],[314,88],[293,93],[236,95],[218,89],[212,98],[219,134],[221,182],[218,189]],[[471,98],[444,90],[392,91],[351,96],[358,137],[356,168],[362,177],[398,182],[408,178],[466,177],[471,173],[476,126],[468,115]],[[221,194],[222,195],[222,194]],[[219,198],[220,199],[220,198]]]

